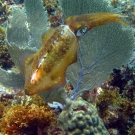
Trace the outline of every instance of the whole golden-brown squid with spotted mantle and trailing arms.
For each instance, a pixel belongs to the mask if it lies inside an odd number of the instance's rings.
[[[67,67],[77,61],[79,37],[110,22],[127,26],[121,17],[125,16],[116,13],[71,16],[65,20],[64,25],[46,31],[42,35],[39,51],[23,59],[25,93],[33,95],[63,85]]]

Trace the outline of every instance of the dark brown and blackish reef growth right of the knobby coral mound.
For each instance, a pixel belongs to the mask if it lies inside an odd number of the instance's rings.
[[[100,89],[84,92],[83,98],[98,109],[109,133],[133,135],[135,132],[135,75],[131,66],[114,69]],[[93,100],[92,100],[93,99]]]

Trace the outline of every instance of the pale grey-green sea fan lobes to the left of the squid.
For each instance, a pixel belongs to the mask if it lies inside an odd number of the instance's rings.
[[[47,25],[47,14],[43,9],[41,1],[32,0],[32,2],[31,1],[27,1],[27,2],[28,2],[28,4],[25,4],[28,6],[27,9],[33,10],[31,12],[31,17],[28,17],[29,19],[27,20],[26,14],[24,13],[23,9],[12,6],[12,11],[10,13],[13,16],[9,16],[9,25],[8,25],[7,33],[6,33],[8,41],[15,44],[15,45],[12,45],[11,47],[8,46],[8,49],[9,49],[9,53],[11,54],[11,57],[12,57],[13,61],[15,62],[15,65],[17,68],[20,67],[19,58],[22,54],[24,54],[26,52],[31,54],[31,53],[35,53],[37,51],[37,48],[39,48],[41,45],[41,40],[40,40],[41,35],[47,29],[47,26],[46,26]],[[37,4],[36,4],[36,2],[37,2]],[[33,6],[33,9],[31,8],[32,3],[34,5],[37,5],[36,10],[34,9],[34,6]],[[28,10],[27,11],[28,16],[30,16],[29,12],[30,11]],[[33,14],[34,14],[34,17],[32,18]],[[37,17],[35,17],[35,16],[37,16]],[[40,16],[40,18],[39,18],[39,16]],[[27,23],[26,20],[29,21],[29,23]],[[41,23],[42,23],[42,25],[41,25]],[[26,24],[28,24],[28,25],[26,25]],[[29,28],[31,28],[31,31],[29,31],[28,26],[29,26]],[[32,38],[31,38],[31,36],[32,36]],[[14,39],[16,41],[14,41]],[[34,40],[34,42],[33,42],[33,40]],[[35,42],[35,40],[36,40],[36,42]],[[15,52],[17,52],[17,53],[15,53]],[[20,88],[22,88],[24,85],[24,78],[21,73],[20,74],[15,73],[15,72],[8,73],[8,72],[0,69],[0,76],[3,76],[3,79],[1,79],[1,83],[4,85],[8,85],[10,87],[19,86]]]

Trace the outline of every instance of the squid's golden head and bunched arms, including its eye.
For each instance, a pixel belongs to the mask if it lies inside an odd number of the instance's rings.
[[[110,22],[121,23],[124,26],[128,26],[128,24],[121,19],[122,17],[127,16],[111,12],[83,14],[68,17],[65,20],[65,25],[68,25],[76,36],[80,36],[81,34],[77,34],[78,30],[82,30],[81,32],[83,34],[95,27],[102,26]]]

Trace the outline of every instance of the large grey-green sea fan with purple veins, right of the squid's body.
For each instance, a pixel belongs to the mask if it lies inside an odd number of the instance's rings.
[[[95,12],[116,13],[106,0],[63,0],[61,5],[65,18]],[[66,72],[76,94],[100,86],[113,68],[128,62],[134,47],[131,31],[129,27],[109,23],[79,39],[78,62]]]

